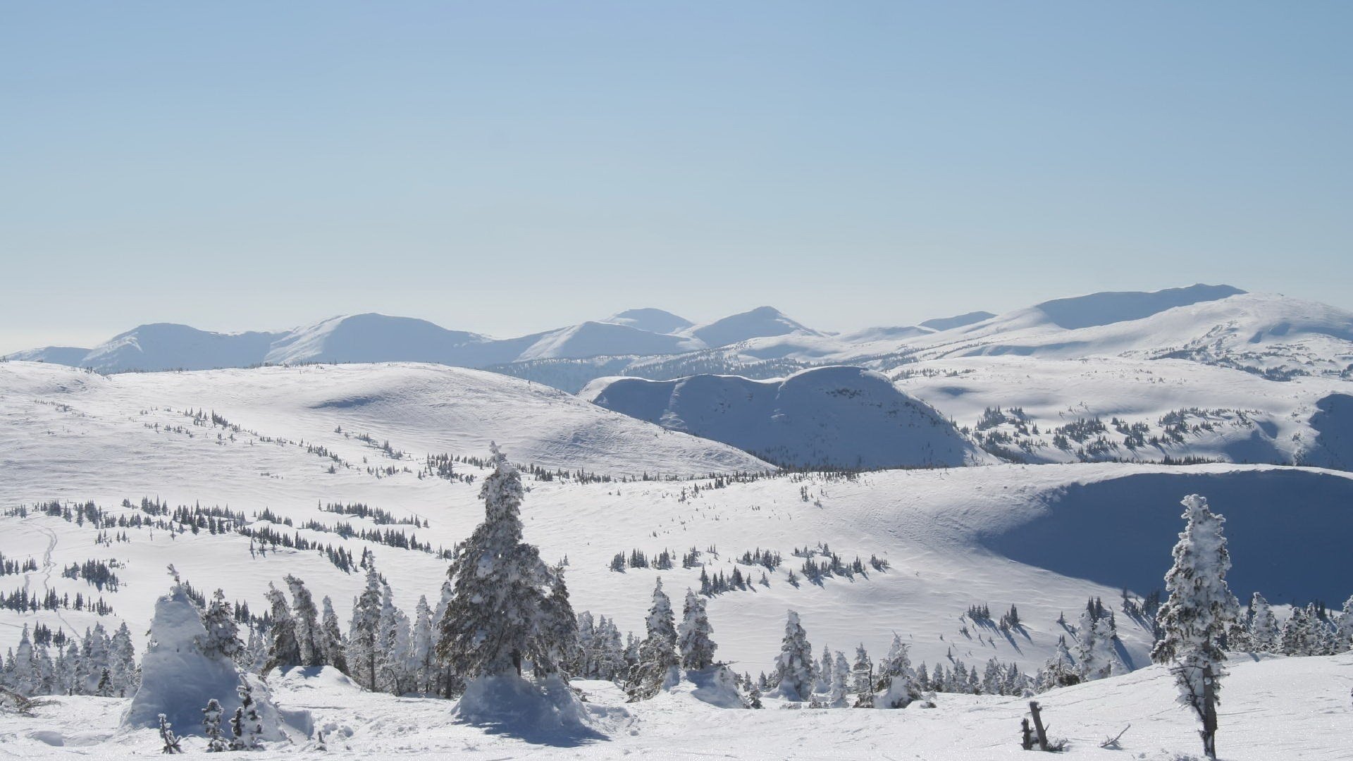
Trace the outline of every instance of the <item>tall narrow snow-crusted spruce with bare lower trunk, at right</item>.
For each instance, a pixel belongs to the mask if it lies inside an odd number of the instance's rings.
[[[1164,636],[1151,649],[1151,661],[1170,664],[1180,703],[1203,722],[1203,753],[1216,758],[1216,703],[1226,676],[1220,642],[1239,604],[1226,585],[1231,567],[1222,534],[1226,519],[1212,513],[1199,494],[1181,504],[1185,525],[1174,544],[1174,566],[1165,574],[1169,599],[1157,616]]]

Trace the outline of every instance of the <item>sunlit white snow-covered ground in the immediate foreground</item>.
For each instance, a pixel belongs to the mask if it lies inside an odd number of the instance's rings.
[[[1219,758],[1226,761],[1348,758],[1353,735],[1353,655],[1252,661],[1237,658],[1223,682]],[[271,677],[280,708],[304,710],[323,731],[329,756],[387,758],[884,758],[986,761],[1030,758],[1019,746],[1019,697],[940,695],[935,708],[905,711],[721,710],[676,689],[653,700],[624,704],[607,682],[575,682],[610,715],[584,737],[530,737],[484,733],[449,720],[445,700],[364,693],[331,672]],[[1162,666],[1059,688],[1038,696],[1053,738],[1069,741],[1069,758],[1200,758],[1192,714],[1173,703],[1174,687]],[[0,715],[0,756],[14,758],[127,758],[160,753],[154,730],[123,731],[126,700],[57,697],[35,718]],[[1123,733],[1120,750],[1105,738]],[[524,737],[526,735],[526,737]],[[536,742],[532,742],[534,739]],[[184,749],[200,752],[202,738]],[[317,750],[318,742],[279,742],[260,758]]]

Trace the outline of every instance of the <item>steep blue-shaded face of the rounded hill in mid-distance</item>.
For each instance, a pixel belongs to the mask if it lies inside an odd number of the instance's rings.
[[[935,467],[992,459],[934,409],[858,367],[805,370],[783,380],[602,379],[580,395],[796,467]]]

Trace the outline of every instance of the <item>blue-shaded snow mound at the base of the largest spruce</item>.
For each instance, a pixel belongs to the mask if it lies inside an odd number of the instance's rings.
[[[452,710],[457,722],[538,745],[582,745],[606,739],[601,731],[603,720],[625,716],[628,712],[624,708],[584,704],[557,677],[532,682],[517,674],[484,676],[471,681]]]

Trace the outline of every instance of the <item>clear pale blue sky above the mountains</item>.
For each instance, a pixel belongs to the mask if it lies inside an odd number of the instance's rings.
[[[1349,3],[0,0],[0,352],[1353,307]]]

